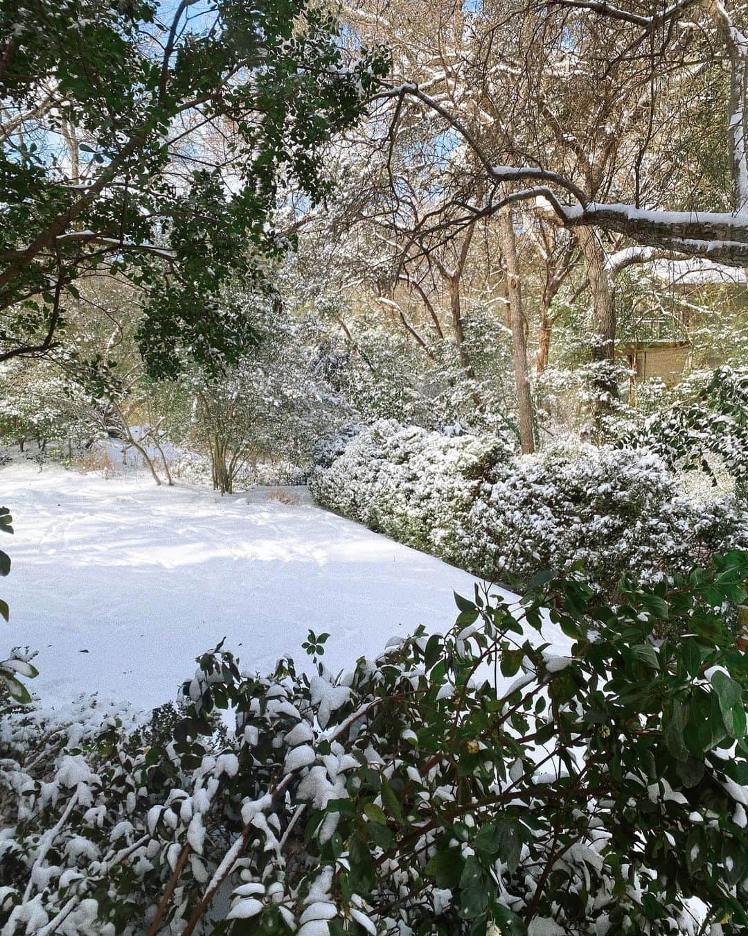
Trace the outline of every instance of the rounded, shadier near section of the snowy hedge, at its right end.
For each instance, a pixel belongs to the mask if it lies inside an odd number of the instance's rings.
[[[679,496],[653,454],[565,441],[484,484],[465,539],[470,566],[486,578],[577,564],[611,586],[622,575],[683,570],[697,552],[747,548],[748,518],[731,501]]]

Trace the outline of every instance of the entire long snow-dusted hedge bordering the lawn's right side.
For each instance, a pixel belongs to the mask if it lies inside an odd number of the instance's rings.
[[[562,441],[514,458],[495,437],[375,423],[318,465],[316,500],[492,581],[580,565],[611,590],[748,548],[731,497],[696,503],[653,454]]]

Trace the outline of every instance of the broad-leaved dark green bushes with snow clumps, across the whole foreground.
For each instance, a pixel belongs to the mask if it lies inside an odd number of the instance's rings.
[[[3,932],[743,932],[747,577],[476,592],[347,675],[310,634],[310,677],[219,647],[151,724],[10,716]]]

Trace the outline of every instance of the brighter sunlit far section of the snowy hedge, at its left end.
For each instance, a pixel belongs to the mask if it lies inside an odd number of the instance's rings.
[[[381,419],[319,465],[309,487],[320,504],[457,561],[459,520],[478,482],[510,456],[511,444],[497,435],[448,435]]]

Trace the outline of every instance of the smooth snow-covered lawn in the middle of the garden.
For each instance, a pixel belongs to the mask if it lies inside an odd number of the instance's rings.
[[[13,565],[0,653],[39,651],[30,688],[45,707],[96,692],[151,708],[223,637],[243,668],[266,672],[285,653],[306,660],[309,628],[327,632],[337,670],[420,623],[453,623],[452,592],[471,594],[474,578],[311,505],[306,490],[281,490],[299,503],[3,468],[0,505],[16,532],[1,544]]]

